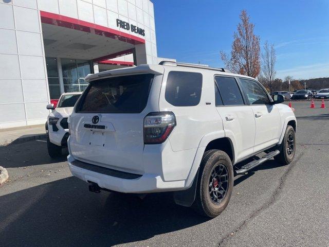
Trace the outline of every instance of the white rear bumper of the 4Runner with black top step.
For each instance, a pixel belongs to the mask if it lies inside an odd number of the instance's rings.
[[[97,183],[99,187],[114,190],[123,193],[151,193],[151,192],[161,192],[161,191],[175,191],[182,190],[185,187],[185,180],[179,181],[168,181],[165,182],[162,180],[160,174],[152,174],[152,173],[144,173],[138,178],[135,179],[125,179],[120,175],[116,175],[116,172],[111,174],[111,171],[96,171],[91,167],[94,165],[90,165],[90,169],[88,169],[88,163],[84,163],[86,165],[74,165],[77,160],[71,155],[67,156],[67,163],[71,170],[72,175],[75,177],[85,181],[85,182],[94,182]],[[79,162],[79,161],[78,161]],[[77,164],[77,163],[76,163]],[[82,168],[83,167],[83,168]],[[100,167],[102,170],[106,169]],[[112,169],[108,169],[112,170]],[[113,171],[113,170],[112,170]],[[120,173],[119,171],[117,171]],[[104,174],[106,173],[106,174]],[[121,172],[123,173],[123,172]],[[130,173],[131,174],[131,173]],[[116,176],[116,177],[114,177]]]

